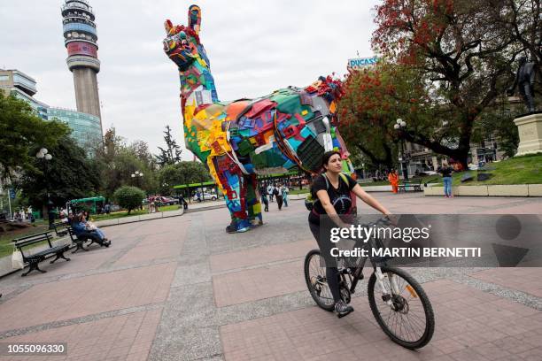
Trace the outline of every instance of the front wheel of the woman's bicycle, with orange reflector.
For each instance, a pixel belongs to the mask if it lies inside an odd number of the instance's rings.
[[[391,291],[392,305],[384,301],[380,282],[373,273],[368,280],[371,311],[391,341],[407,349],[419,349],[430,342],[435,331],[435,315],[422,286],[405,271],[382,267],[384,286]],[[397,287],[392,287],[395,281]]]

